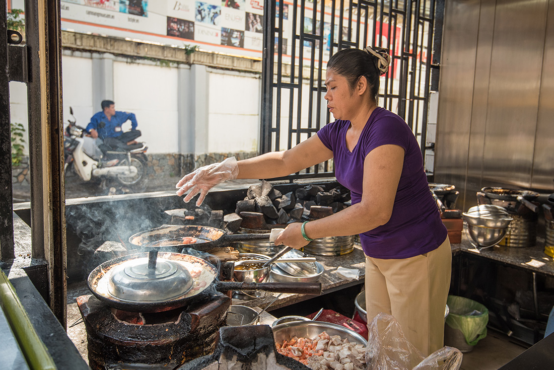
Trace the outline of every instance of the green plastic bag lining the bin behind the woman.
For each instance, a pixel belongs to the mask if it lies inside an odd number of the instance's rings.
[[[475,346],[486,337],[489,310],[485,306],[469,298],[455,295],[448,296],[447,305],[450,309],[447,325],[461,331],[468,345]]]

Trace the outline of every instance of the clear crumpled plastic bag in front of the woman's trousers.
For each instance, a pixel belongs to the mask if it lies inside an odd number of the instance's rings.
[[[443,347],[427,358],[410,343],[398,321],[391,315],[379,314],[368,326],[366,349],[367,370],[458,370],[461,352]]]

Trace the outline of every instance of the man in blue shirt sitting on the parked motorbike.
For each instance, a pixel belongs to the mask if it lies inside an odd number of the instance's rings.
[[[91,117],[86,131],[93,138],[101,138],[106,145],[114,148],[122,148],[136,144],[135,139],[141,135],[136,129],[137,120],[134,113],[115,110],[115,103],[111,100],[103,100],[102,111]],[[121,125],[131,121],[131,131],[122,132]]]

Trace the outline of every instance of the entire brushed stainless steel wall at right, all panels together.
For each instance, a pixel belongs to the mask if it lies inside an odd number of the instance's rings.
[[[448,1],[443,45],[435,182],[552,193],[554,0]]]

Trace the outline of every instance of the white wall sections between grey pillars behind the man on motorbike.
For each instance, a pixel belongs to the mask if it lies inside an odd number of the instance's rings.
[[[179,153],[179,147],[182,147],[179,145],[179,125],[194,125],[194,122],[183,119],[179,121],[178,111],[184,109],[183,101],[194,101],[195,97],[191,95],[195,90],[189,89],[188,86],[184,86],[184,89],[183,86],[179,86],[177,66],[161,66],[150,60],[133,60],[129,63],[125,58],[116,56],[102,61],[113,63],[112,74],[111,69],[107,68],[103,72],[107,75],[95,76],[93,57],[99,58],[98,54],[64,50],[64,124],[66,125],[71,118],[69,107],[72,107],[77,124],[83,127],[88,125],[90,117],[100,111],[100,106],[93,104],[94,79],[111,79],[109,82],[113,85],[113,95],[101,99],[112,98],[117,110],[135,113],[142,139],[148,145],[148,153]],[[194,140],[207,142],[208,152],[257,151],[260,130],[259,75],[214,69],[210,69],[207,75],[208,83],[199,88],[206,90],[208,95],[208,119],[202,123],[207,125],[208,130],[201,134],[208,136],[194,137]],[[105,85],[111,86],[110,83]],[[179,88],[189,94],[182,96],[181,101],[178,100]],[[10,103],[12,122],[19,122],[27,127],[25,84],[10,83]],[[199,108],[206,109],[198,106],[192,109]],[[125,131],[129,130],[130,122],[123,127]],[[28,150],[25,150],[25,154],[27,153]],[[194,154],[204,153],[202,150],[202,153]]]

